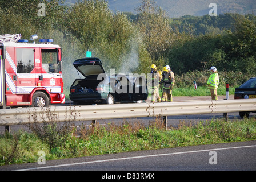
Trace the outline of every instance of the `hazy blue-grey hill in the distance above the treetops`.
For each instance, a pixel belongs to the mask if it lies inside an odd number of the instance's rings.
[[[77,0],[66,0],[72,5]],[[138,0],[109,0],[109,8],[113,11],[131,12],[137,14],[135,8],[141,4]],[[183,15],[203,16],[209,14],[211,0],[155,0],[170,18],[178,18]],[[238,13],[251,14],[256,12],[255,0],[215,0],[217,14]]]

